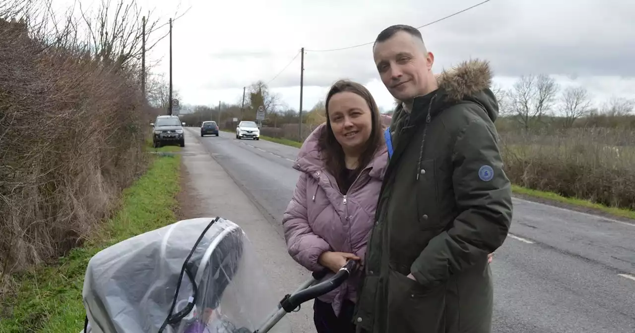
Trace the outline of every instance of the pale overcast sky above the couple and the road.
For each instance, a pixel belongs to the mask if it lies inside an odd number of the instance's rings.
[[[182,104],[239,101],[243,86],[271,81],[300,48],[306,49],[304,108],[340,78],[366,84],[380,106],[392,96],[378,81],[371,45],[396,23],[419,27],[482,0],[182,0],[173,25],[173,84]],[[169,18],[175,0],[145,0]],[[563,86],[582,85],[601,103],[635,98],[635,1],[491,0],[420,29],[435,55],[434,72],[462,60],[491,62],[495,82],[509,88],[523,74],[550,74]],[[150,54],[168,72],[168,39]],[[300,56],[269,83],[299,107]]]

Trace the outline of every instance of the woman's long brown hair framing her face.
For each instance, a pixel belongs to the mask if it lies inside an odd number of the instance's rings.
[[[382,122],[379,119],[379,108],[377,107],[377,103],[375,103],[375,99],[370,94],[370,91],[357,82],[349,80],[340,80],[335,82],[328,91],[328,94],[326,94],[326,101],[324,101],[324,107],[326,108],[326,131],[323,131],[321,137],[319,138],[319,148],[322,152],[326,170],[335,177],[335,181],[337,181],[339,186],[341,186],[344,181],[343,175],[346,164],[344,160],[344,150],[342,150],[342,146],[335,139],[333,128],[331,128],[331,122],[328,117],[328,103],[333,95],[344,91],[354,93],[361,96],[361,98],[364,98],[371,112],[372,127],[370,137],[368,138],[368,141],[366,141],[366,145],[363,148],[361,155],[359,155],[356,173],[359,173],[362,169],[364,169],[364,167],[368,166],[371,160],[373,160],[373,156],[375,155],[375,152],[377,152],[377,148],[380,147],[381,141],[384,140],[382,138]]]

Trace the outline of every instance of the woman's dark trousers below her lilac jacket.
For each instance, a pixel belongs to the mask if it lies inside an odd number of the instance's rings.
[[[318,333],[355,333],[355,325],[352,322],[355,303],[348,299],[342,304],[340,317],[335,316],[330,303],[324,303],[319,299],[313,303],[313,322]]]

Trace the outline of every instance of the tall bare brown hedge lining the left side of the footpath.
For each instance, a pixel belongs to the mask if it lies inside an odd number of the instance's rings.
[[[58,19],[50,0],[0,2],[19,18],[0,19],[0,287],[80,244],[145,169],[142,11],[117,1],[85,21],[79,3]]]

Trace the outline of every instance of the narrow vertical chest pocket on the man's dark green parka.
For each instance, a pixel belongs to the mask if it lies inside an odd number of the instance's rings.
[[[432,230],[441,227],[439,216],[439,189],[437,186],[438,171],[434,159],[422,160],[417,180],[417,218],[421,230]]]

